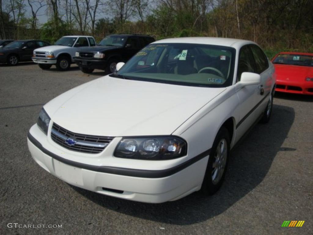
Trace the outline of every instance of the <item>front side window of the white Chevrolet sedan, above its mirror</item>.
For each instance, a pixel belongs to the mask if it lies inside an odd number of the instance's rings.
[[[243,46],[239,51],[237,81],[240,81],[243,72],[255,73],[253,55],[248,46]]]

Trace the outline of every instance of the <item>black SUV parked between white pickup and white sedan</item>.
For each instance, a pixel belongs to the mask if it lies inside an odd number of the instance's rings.
[[[113,34],[102,39],[97,46],[76,52],[74,60],[84,73],[92,73],[94,69],[114,73],[118,62],[126,62],[154,41],[149,35]]]

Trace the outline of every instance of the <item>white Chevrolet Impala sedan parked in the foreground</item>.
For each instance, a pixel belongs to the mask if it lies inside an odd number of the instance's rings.
[[[269,121],[275,70],[251,41],[174,38],[44,105],[28,133],[33,159],[65,182],[142,202],[211,195],[229,154]]]

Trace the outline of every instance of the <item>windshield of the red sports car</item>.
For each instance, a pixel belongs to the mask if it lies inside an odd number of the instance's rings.
[[[300,65],[313,67],[312,55],[279,54],[273,64]]]

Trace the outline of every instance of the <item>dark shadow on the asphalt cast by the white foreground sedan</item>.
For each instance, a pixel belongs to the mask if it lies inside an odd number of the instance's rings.
[[[211,197],[196,192],[178,201],[147,204],[72,187],[98,205],[130,216],[177,225],[206,221],[223,213],[257,187],[268,173],[278,151],[295,150],[282,147],[294,118],[293,108],[274,105],[270,122],[257,124],[232,150],[225,182]]]

